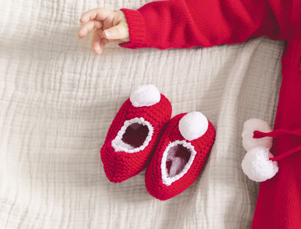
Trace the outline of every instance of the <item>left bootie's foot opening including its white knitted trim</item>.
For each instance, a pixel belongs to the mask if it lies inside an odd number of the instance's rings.
[[[138,152],[148,145],[153,133],[154,128],[150,122],[145,121],[141,117],[136,117],[124,122],[111,144],[116,152]]]

